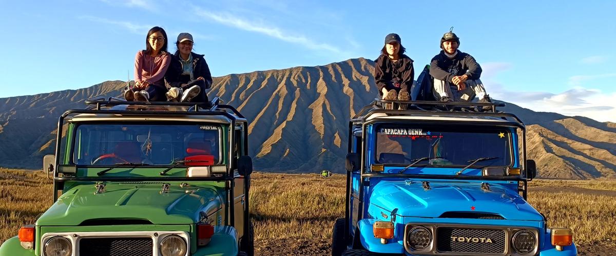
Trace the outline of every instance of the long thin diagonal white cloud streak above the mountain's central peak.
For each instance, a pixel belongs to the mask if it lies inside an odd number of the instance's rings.
[[[276,26],[264,25],[262,22],[244,20],[243,18],[237,17],[229,13],[213,14],[206,10],[197,8],[197,14],[201,17],[208,18],[209,20],[216,21],[217,23],[221,23],[225,26],[232,26],[234,28],[242,29],[245,31],[264,34],[266,36],[274,37],[275,39],[280,39],[285,42],[303,45],[304,47],[310,48],[312,50],[326,50],[334,53],[342,52],[337,47],[325,43],[318,43],[312,41],[306,36],[299,34],[289,34]]]

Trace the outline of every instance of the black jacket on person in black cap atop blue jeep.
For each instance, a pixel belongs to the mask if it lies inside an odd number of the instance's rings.
[[[413,86],[413,79],[415,79],[413,60],[407,55],[400,56],[396,62],[389,60],[387,55],[383,54],[376,59],[375,83],[379,95],[383,95],[383,87],[387,90],[402,88],[409,90]],[[399,87],[395,83],[399,83]]]

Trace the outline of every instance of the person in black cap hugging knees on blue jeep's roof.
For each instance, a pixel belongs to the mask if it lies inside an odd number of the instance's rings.
[[[382,99],[408,101],[408,90],[413,86],[415,70],[413,60],[404,54],[398,34],[388,34],[381,55],[375,61],[375,83]],[[394,109],[394,104],[386,103],[385,109]],[[406,109],[400,104],[399,109]]]

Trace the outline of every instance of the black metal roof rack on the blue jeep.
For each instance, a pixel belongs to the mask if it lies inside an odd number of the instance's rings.
[[[406,110],[387,110],[383,108],[385,103],[408,104]],[[475,107],[491,107],[491,111],[476,111]],[[505,103],[460,103],[460,102],[441,102],[441,101],[397,101],[375,98],[375,101],[364,106],[350,123],[366,122],[367,118],[376,113],[387,115],[460,115],[465,117],[495,117],[524,126],[524,122],[516,115],[506,112],[497,112],[496,107],[504,107]]]

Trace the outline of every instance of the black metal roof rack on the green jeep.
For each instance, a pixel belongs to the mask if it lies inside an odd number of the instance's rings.
[[[150,107],[150,106],[184,106],[188,107],[185,111],[174,111],[174,112],[185,112],[185,114],[190,114],[191,112],[200,112],[200,111],[224,111],[224,112],[232,112],[235,116],[239,118],[245,118],[235,107],[221,104],[221,99],[216,97],[212,99],[210,102],[206,103],[176,103],[176,102],[166,102],[166,101],[126,101],[124,99],[109,97],[105,98],[103,96],[86,99],[86,104],[88,105],[86,109],[95,110],[95,111],[116,111],[118,109],[113,108],[114,106],[127,106],[126,109],[122,111],[128,112],[136,112],[139,111],[161,111],[160,108]],[[128,106],[144,106],[146,109],[130,109]]]

